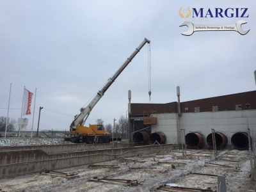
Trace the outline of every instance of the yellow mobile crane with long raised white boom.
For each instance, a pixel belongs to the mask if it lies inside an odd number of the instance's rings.
[[[72,124],[70,125],[70,134],[65,136],[64,141],[71,141],[72,143],[110,143],[111,134],[109,132],[105,132],[103,125],[89,125],[89,127],[85,127],[84,124],[86,119],[90,115],[90,112],[94,108],[94,106],[99,102],[104,93],[108,90],[111,84],[115,81],[115,79],[121,74],[121,72],[127,67],[127,65],[132,61],[132,59],[136,56],[138,52],[140,52],[141,48],[146,44],[150,44],[150,40],[145,38],[143,42],[132,52],[131,56],[127,58],[124,64],[118,68],[113,77],[108,79],[108,82],[103,86],[101,90],[95,95],[90,104],[86,106],[86,108],[81,108],[81,113],[76,115]],[[113,139],[114,140],[114,139]],[[117,138],[115,138],[115,141]]]

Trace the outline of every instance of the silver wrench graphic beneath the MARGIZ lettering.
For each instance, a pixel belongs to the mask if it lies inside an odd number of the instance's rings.
[[[246,35],[250,29],[243,30],[241,28],[241,25],[246,23],[244,20],[239,20],[234,25],[196,25],[190,21],[184,21],[180,24],[180,27],[188,26],[188,31],[181,33],[187,36],[192,35],[195,31],[237,31],[241,35]]]

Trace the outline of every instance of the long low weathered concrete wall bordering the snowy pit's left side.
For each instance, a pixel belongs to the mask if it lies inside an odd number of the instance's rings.
[[[74,166],[101,163],[116,159],[117,157],[134,157],[139,154],[152,154],[164,150],[173,150],[173,148],[177,147],[179,146],[171,144],[147,145],[58,154],[47,154],[42,149],[2,151],[0,152],[0,178],[39,173],[44,168],[46,170],[60,170]]]

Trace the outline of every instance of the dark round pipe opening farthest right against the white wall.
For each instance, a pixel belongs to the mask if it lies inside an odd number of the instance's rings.
[[[231,137],[231,143],[238,150],[246,150],[249,147],[248,132],[236,132]]]

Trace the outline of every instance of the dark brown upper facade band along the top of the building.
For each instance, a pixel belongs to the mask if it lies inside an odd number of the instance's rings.
[[[246,107],[246,104],[250,104],[250,107],[248,107],[248,105]],[[182,113],[195,112],[195,108],[197,112],[214,110],[234,111],[236,110],[236,105],[241,105],[241,110],[256,109],[256,91],[180,102],[180,109]],[[187,110],[185,110],[185,108]],[[157,113],[177,113],[177,102],[170,102],[166,104],[131,104],[131,116],[142,115],[143,111],[151,110],[155,110]]]

